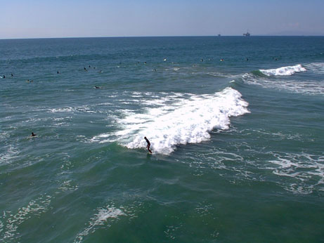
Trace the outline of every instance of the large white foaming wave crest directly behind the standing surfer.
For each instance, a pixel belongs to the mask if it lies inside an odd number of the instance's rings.
[[[92,142],[113,142],[135,149],[145,148],[148,137],[154,152],[168,155],[176,145],[200,143],[213,129],[228,129],[230,117],[249,112],[248,103],[233,88],[212,94],[180,94],[141,100],[143,112],[124,110],[117,120],[119,131],[95,136]],[[155,104],[152,107],[152,104]]]

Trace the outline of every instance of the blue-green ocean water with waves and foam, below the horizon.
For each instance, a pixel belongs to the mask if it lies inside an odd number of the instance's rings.
[[[323,43],[0,40],[0,242],[322,242]]]

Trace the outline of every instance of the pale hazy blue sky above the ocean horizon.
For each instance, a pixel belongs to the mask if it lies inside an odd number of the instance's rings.
[[[0,1],[0,39],[324,35],[324,0]]]

